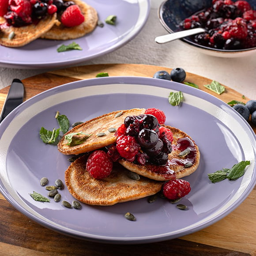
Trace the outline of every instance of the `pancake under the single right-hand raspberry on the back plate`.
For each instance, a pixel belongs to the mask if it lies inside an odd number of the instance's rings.
[[[72,0],[75,4],[79,6],[83,15],[84,22],[78,26],[66,27],[60,22],[54,25],[49,31],[41,36],[45,39],[53,40],[68,40],[75,39],[90,33],[97,26],[98,14],[97,11],[90,5],[84,3],[81,0]],[[57,17],[60,21],[60,17]]]

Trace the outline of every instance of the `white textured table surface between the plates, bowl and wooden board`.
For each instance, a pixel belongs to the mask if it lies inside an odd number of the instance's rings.
[[[78,65],[133,63],[167,68],[180,67],[186,72],[216,80],[248,98],[256,99],[256,54],[239,58],[220,58],[200,53],[179,40],[163,45],[154,42],[156,36],[166,34],[158,20],[158,7],[161,3],[162,0],[151,0],[149,19],[132,41],[112,53]],[[49,70],[53,69],[0,68],[0,89],[10,85],[13,78],[25,79]]]

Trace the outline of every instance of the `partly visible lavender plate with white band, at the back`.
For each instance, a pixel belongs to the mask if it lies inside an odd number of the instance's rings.
[[[77,64],[110,53],[132,40],[145,25],[150,0],[85,0],[98,12],[104,27],[82,38],[57,41],[37,39],[19,48],[0,45],[0,66],[8,68],[52,68]],[[117,15],[115,26],[104,21],[109,15]],[[58,53],[57,48],[75,41],[83,50]]]

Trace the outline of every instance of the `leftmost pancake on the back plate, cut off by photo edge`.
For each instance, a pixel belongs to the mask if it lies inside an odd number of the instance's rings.
[[[41,19],[38,24],[30,24],[28,26],[14,27],[14,26],[1,26],[0,30],[0,45],[8,47],[21,47],[39,38],[45,34],[57,22],[56,13],[47,15]],[[3,17],[2,21],[3,21]],[[14,38],[10,39],[9,35],[14,33]]]

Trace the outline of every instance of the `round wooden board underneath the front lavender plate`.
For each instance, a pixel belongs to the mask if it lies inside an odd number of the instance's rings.
[[[100,64],[64,68],[23,80],[25,100],[64,83],[94,78],[100,72],[109,76],[152,77],[159,70],[170,68],[142,64]],[[242,93],[226,87],[218,95],[203,87],[211,79],[187,73],[187,82],[222,99],[247,102]],[[0,90],[0,109],[9,87]],[[256,132],[256,127],[253,127]],[[256,255],[256,188],[228,216],[196,233],[151,245],[98,245],[58,234],[31,221],[15,210],[0,194],[0,248],[3,255]],[[11,254],[10,254],[11,253]],[[1,253],[0,253],[1,254]]]

